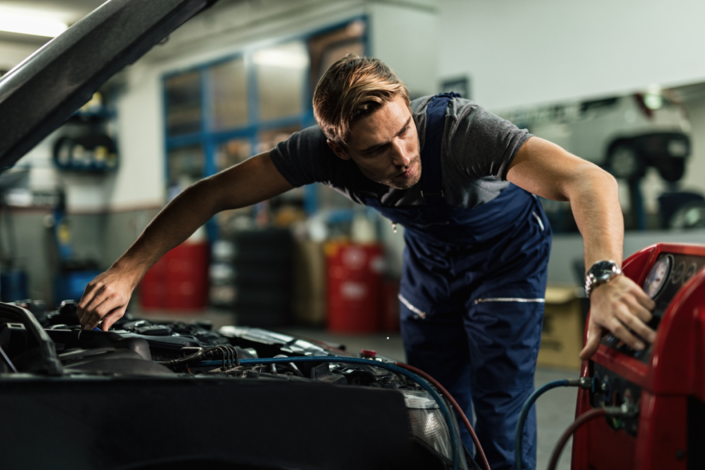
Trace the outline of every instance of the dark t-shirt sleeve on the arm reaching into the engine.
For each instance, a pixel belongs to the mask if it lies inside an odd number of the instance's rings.
[[[294,132],[276,144],[269,155],[279,173],[295,187],[330,179],[333,151],[317,125]]]

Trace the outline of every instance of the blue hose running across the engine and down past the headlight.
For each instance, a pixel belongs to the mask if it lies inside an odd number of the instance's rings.
[[[394,364],[389,364],[388,362],[381,361],[371,361],[369,359],[359,359],[357,357],[339,357],[339,356],[299,356],[299,357],[267,357],[262,359],[240,359],[240,365],[257,365],[257,364],[284,364],[286,362],[346,362],[350,364],[364,364],[366,366],[380,367],[381,369],[387,369],[388,371],[393,371],[399,373],[405,377],[412,379],[421,387],[434,397],[436,403],[439,404],[441,409],[441,414],[443,414],[443,419],[448,423],[448,432],[450,433],[450,447],[453,451],[453,470],[458,470],[460,468],[460,439],[458,434],[454,433],[453,430],[455,426],[453,425],[453,419],[450,417],[450,410],[446,406],[446,402],[443,401],[441,395],[434,390],[427,381],[423,378],[417,376],[415,373],[402,369]],[[195,364],[194,367],[202,366],[219,366],[222,361],[202,361]]]

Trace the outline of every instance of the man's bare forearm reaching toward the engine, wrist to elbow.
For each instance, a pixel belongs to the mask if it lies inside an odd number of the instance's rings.
[[[112,268],[128,276],[134,287],[161,256],[190,237],[218,210],[209,180],[187,187],[157,214]]]

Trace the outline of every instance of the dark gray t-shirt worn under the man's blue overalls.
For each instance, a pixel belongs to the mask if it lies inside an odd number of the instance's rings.
[[[421,149],[429,101],[431,97],[411,102]],[[529,137],[532,136],[526,129],[517,128],[470,100],[451,99],[441,144],[443,198],[451,206],[467,208],[490,202],[509,185],[509,165]],[[271,159],[295,187],[323,183],[360,204],[369,192],[375,192],[383,206],[424,204],[420,184],[397,190],[369,180],[353,160],[338,158],[318,126],[295,132],[279,143],[271,151]]]

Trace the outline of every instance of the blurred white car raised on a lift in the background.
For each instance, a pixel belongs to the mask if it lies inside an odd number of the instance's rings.
[[[517,109],[502,117],[625,180],[642,178],[652,166],[675,183],[691,151],[685,108],[673,93],[656,87],[628,96]]]

